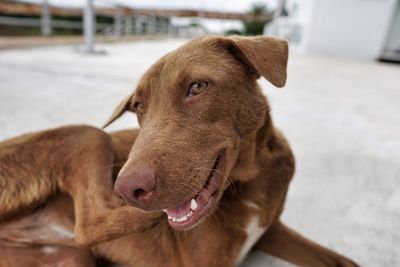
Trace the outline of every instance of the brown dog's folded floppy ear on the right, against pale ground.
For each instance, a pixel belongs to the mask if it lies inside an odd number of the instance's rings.
[[[245,57],[245,63],[250,63],[258,77],[263,76],[276,87],[285,85],[289,51],[287,41],[268,36],[233,36],[228,39],[233,41],[233,50],[243,54],[241,57]]]

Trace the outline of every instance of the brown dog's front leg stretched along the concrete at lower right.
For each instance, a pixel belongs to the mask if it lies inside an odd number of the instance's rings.
[[[358,266],[278,222],[261,237],[255,248],[299,266]]]

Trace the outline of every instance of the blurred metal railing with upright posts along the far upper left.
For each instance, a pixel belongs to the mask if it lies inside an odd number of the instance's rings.
[[[116,5],[113,0],[107,0],[110,8],[94,8],[94,0],[85,0],[83,8],[62,8],[51,6],[48,0],[42,4],[30,4],[18,1],[0,2],[0,24],[16,26],[41,27],[43,35],[50,35],[52,29],[82,30],[84,34],[84,51],[95,51],[95,35],[190,35],[200,34],[204,29],[198,27],[173,27],[170,17],[202,17],[242,21],[271,21],[273,14],[253,15],[248,13],[229,13],[199,10],[170,10],[170,9],[135,9]],[[105,1],[105,0],[96,0]],[[12,15],[18,15],[13,17]],[[97,23],[96,15],[112,19],[112,23]],[[38,16],[38,18],[21,17]],[[83,21],[69,21],[56,18],[82,17]],[[192,33],[191,33],[192,32]]]

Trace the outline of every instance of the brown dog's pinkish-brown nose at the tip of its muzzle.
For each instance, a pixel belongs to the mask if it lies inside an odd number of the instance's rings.
[[[156,177],[147,167],[122,171],[114,185],[114,192],[129,204],[147,210],[154,197]]]

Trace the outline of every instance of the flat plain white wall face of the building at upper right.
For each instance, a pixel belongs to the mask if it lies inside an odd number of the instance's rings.
[[[379,57],[397,0],[313,1],[303,44],[305,52],[362,59]]]

